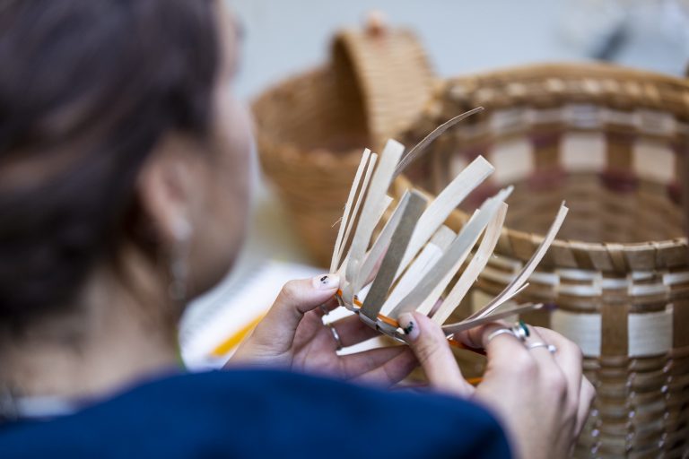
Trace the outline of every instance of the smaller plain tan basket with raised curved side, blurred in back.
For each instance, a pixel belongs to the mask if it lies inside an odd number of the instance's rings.
[[[329,264],[365,146],[408,126],[432,91],[423,49],[406,30],[340,32],[329,65],[266,91],[254,103],[258,152],[318,264]]]

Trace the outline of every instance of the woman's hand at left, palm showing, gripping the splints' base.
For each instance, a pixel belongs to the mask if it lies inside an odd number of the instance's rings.
[[[408,346],[392,346],[339,356],[340,344],[351,346],[378,336],[358,316],[323,324],[323,315],[337,307],[336,274],[287,282],[273,307],[240,345],[228,366],[291,368],[331,377],[394,385],[417,365]],[[340,342],[336,341],[337,334]]]

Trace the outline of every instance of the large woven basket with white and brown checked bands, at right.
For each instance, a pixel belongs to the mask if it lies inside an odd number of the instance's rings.
[[[524,301],[525,317],[578,342],[597,399],[580,457],[689,455],[689,257],[680,172],[689,154],[689,82],[608,65],[534,65],[445,82],[402,136],[414,144],[467,108],[486,110],[438,139],[396,184],[429,193],[484,154],[496,167],[472,202],[515,184],[495,257],[463,313],[504,288],[571,208]],[[471,196],[470,196],[471,198]]]

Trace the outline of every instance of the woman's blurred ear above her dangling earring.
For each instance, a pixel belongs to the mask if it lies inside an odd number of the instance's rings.
[[[201,170],[194,160],[192,142],[179,134],[167,135],[154,149],[139,175],[136,187],[144,219],[156,238],[170,247],[191,235],[191,217],[198,193]]]

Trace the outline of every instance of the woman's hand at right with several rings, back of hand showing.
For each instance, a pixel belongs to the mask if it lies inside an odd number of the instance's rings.
[[[568,457],[589,414],[595,389],[581,373],[581,351],[573,342],[540,327],[529,326],[526,343],[510,333],[488,337],[506,325],[478,327],[455,339],[484,348],[488,364],[476,387],[462,377],[440,327],[428,317],[399,317],[409,343],[430,384],[437,390],[483,403],[501,420],[514,453],[522,458]],[[411,327],[410,327],[410,324]],[[528,349],[528,343],[553,344]]]

